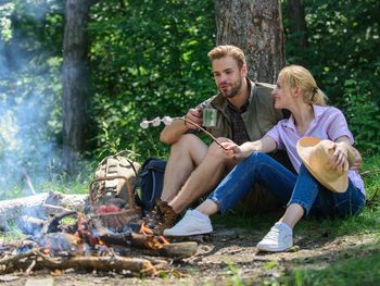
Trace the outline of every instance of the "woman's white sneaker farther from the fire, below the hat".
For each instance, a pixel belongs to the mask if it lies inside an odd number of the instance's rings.
[[[263,251],[279,252],[284,251],[293,246],[292,228],[281,222],[277,222],[257,244],[257,248]]]

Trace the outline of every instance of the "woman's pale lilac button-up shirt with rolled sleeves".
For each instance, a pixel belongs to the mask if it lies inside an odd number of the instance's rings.
[[[337,140],[339,137],[347,136],[351,144],[354,144],[354,137],[349,129],[347,122],[343,113],[333,107],[313,105],[315,119],[311,122],[305,134],[300,135],[294,125],[293,115],[289,120],[281,120],[274,126],[266,136],[276,140],[277,149],[287,150],[294,170],[300,171],[301,158],[296,152],[296,142],[303,137],[316,137],[319,139]],[[349,177],[355,187],[365,194],[364,183],[360,175],[349,170]]]

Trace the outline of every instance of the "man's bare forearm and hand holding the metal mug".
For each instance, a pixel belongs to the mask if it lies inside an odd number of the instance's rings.
[[[202,125],[202,110],[190,109],[186,114],[186,119],[197,123],[198,125]],[[181,120],[175,120],[170,125],[165,126],[165,128],[161,132],[160,140],[167,145],[175,144],[186,132],[191,129],[197,129],[197,126]]]

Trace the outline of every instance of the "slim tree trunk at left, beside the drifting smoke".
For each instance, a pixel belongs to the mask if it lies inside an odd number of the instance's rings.
[[[89,97],[87,23],[90,0],[66,0],[63,42],[63,167],[75,171],[87,147]]]

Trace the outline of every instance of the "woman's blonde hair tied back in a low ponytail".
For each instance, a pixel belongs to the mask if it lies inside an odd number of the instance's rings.
[[[279,82],[288,88],[299,87],[303,91],[304,101],[325,107],[327,96],[321,91],[309,71],[301,65],[289,65],[278,75]]]

